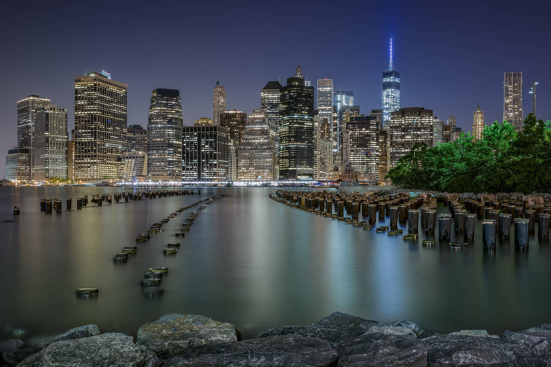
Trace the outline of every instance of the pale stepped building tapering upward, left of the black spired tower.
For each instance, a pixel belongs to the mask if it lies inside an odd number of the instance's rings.
[[[273,180],[276,171],[276,128],[263,109],[253,109],[239,146],[237,175],[240,181]]]

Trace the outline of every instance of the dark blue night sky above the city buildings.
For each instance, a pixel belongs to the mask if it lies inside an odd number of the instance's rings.
[[[525,117],[551,119],[549,2],[9,2],[0,14],[0,177],[17,145],[16,101],[29,94],[68,109],[74,80],[106,70],[128,84],[128,124],[147,125],[151,91],[180,90],[184,124],[212,118],[217,80],[226,108],[251,113],[260,90],[294,74],[354,91],[360,113],[381,108],[393,37],[402,107],[433,109],[472,129],[480,103],[501,120],[504,72],[522,72]]]

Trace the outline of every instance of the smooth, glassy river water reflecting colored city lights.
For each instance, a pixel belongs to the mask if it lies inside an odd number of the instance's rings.
[[[489,255],[478,222],[474,244],[458,251],[436,240],[426,248],[423,235],[411,243],[292,209],[269,199],[274,188],[203,188],[201,196],[75,209],[79,196],[120,191],[0,188],[0,339],[13,328],[42,336],[85,324],[135,336],[169,313],[232,322],[249,337],[261,328],[309,325],[333,311],[409,319],[441,333],[485,328],[501,335],[551,321],[551,251],[537,234],[530,251],[519,253],[511,228],[511,239],[498,239]],[[174,232],[196,208],[147,242],[134,240],[176,209],[220,194],[231,196],[206,205],[185,237]],[[60,198],[63,208],[71,197],[74,211],[45,214],[45,197]],[[407,224],[399,228],[407,233]],[[169,242],[181,243],[176,255],[163,255]],[[125,245],[137,245],[138,253],[115,264]],[[139,284],[151,266],[170,268],[160,297],[145,297]],[[79,287],[98,287],[99,296],[78,298]]]

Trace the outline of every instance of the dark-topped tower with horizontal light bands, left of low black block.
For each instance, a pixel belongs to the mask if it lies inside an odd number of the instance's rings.
[[[153,181],[182,179],[182,103],[180,91],[153,91],[147,124],[147,174]]]

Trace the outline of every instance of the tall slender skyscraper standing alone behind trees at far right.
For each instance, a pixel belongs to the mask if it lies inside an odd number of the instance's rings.
[[[523,130],[522,73],[505,73],[503,79],[503,120],[507,120],[517,132]]]

